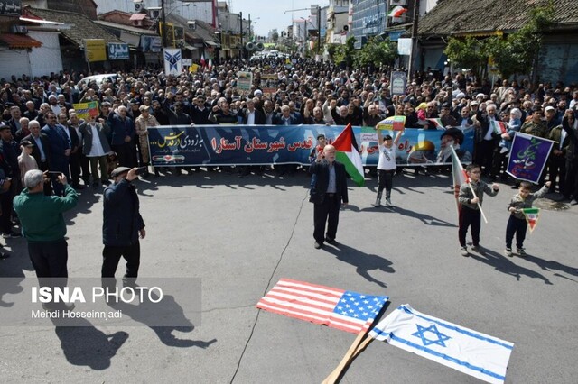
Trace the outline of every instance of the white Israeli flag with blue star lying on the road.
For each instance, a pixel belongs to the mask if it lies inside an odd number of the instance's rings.
[[[405,304],[369,333],[424,358],[490,383],[506,379],[513,343],[421,314]]]

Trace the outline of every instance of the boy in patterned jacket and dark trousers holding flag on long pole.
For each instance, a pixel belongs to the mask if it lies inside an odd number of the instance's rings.
[[[461,256],[467,257],[468,247],[466,246],[466,233],[471,226],[472,251],[480,251],[480,229],[481,212],[480,206],[484,193],[489,196],[498,195],[499,185],[492,184],[491,187],[486,182],[480,180],[481,168],[477,164],[470,164],[466,167],[468,178],[461,184],[458,202],[460,203],[460,226],[458,237],[460,239]]]

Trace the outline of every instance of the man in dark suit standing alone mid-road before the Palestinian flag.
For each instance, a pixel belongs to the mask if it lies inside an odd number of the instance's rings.
[[[326,145],[323,151],[318,153],[317,159],[309,168],[309,173],[315,175],[316,178],[311,193],[311,201],[314,204],[314,247],[315,249],[322,248],[323,242],[337,246],[339,244],[335,241],[335,235],[340,219],[341,202],[343,206],[346,206],[349,199],[345,166],[335,161],[335,147]],[[325,233],[325,223],[327,223],[327,233]]]

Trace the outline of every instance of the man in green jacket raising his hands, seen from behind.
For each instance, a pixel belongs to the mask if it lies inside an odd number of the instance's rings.
[[[14,197],[14,211],[20,218],[28,255],[39,280],[68,278],[68,243],[64,240],[66,224],[62,213],[76,206],[79,196],[64,175],[59,175],[58,181],[64,196],[45,196],[42,170],[29,170],[24,175],[25,189]]]

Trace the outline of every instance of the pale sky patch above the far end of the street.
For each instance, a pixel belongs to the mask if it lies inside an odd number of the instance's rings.
[[[228,1],[228,0],[227,0]],[[309,10],[290,11],[292,9],[310,8],[311,5],[329,5],[328,0],[231,0],[232,12],[238,14],[243,13],[243,18],[248,18],[251,15],[251,22],[253,30],[257,35],[266,36],[270,30],[277,29],[281,32],[288,25],[291,25],[292,14],[295,19],[300,17],[307,18],[311,14]],[[258,18],[258,19],[257,19]]]

